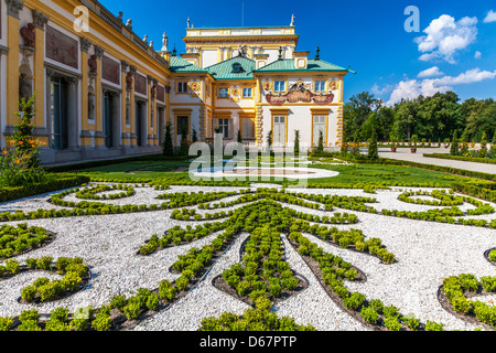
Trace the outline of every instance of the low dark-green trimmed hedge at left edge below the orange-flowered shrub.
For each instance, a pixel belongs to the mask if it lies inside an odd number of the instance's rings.
[[[0,202],[24,199],[52,191],[58,191],[86,184],[89,176],[74,174],[48,174],[48,181],[29,186],[0,188]]]

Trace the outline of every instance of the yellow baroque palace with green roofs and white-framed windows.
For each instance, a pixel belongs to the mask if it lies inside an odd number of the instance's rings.
[[[343,141],[344,77],[351,69],[296,51],[289,25],[194,28],[185,53],[157,49],[132,21],[95,0],[0,0],[0,147],[35,95],[34,135],[45,164],[161,151],[165,125],[211,142],[261,148]]]

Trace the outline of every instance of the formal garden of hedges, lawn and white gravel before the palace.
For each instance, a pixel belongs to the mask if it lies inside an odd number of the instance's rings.
[[[375,133],[367,153],[311,153],[332,173],[304,188],[192,181],[187,156],[42,168],[21,108],[1,162],[1,331],[496,328],[494,174],[380,159]]]

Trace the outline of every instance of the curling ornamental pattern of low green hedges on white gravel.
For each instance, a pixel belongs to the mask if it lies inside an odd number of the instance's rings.
[[[172,184],[172,183],[171,183]],[[155,204],[112,204],[101,202],[131,197],[139,188],[154,188],[157,191],[169,190],[161,183],[126,185],[123,183],[85,184],[80,188],[60,192],[50,197],[50,202],[63,210],[37,210],[32,212],[4,212],[0,214],[2,222],[74,217],[86,215],[105,215],[134,212],[154,212],[172,210],[171,218],[185,223],[164,229],[163,235],[153,235],[137,248],[137,256],[150,256],[169,247],[193,244],[206,236],[217,234],[209,244],[202,248],[193,247],[181,255],[170,271],[180,275],[174,281],[163,279],[159,288],[140,288],[134,295],[118,295],[108,298],[108,303],[100,308],[82,308],[68,312],[66,308],[57,308],[50,313],[40,313],[36,309],[26,309],[14,318],[0,318],[0,331],[109,331],[131,329],[140,320],[173,306],[187,291],[205,280],[212,266],[225,254],[230,244],[241,234],[248,234],[240,252],[240,261],[225,269],[222,276],[213,281],[219,290],[250,304],[241,315],[226,312],[219,318],[203,319],[198,330],[315,330],[312,325],[299,325],[292,318],[279,318],[271,312],[271,307],[280,301],[298,296],[304,291],[306,280],[296,274],[287,261],[284,244],[293,247],[306,261],[330,297],[351,315],[360,320],[374,330],[388,331],[441,331],[443,324],[421,322],[411,314],[402,314],[393,306],[380,300],[367,298],[358,291],[349,291],[348,281],[365,281],[365,274],[353,264],[332,253],[324,252],[308,235],[315,236],[332,246],[351,252],[360,252],[380,258],[381,266],[396,263],[381,239],[368,237],[359,229],[353,228],[360,222],[359,216],[346,211],[381,214],[384,216],[409,217],[413,220],[448,222],[481,227],[494,227],[495,222],[484,220],[455,220],[454,216],[492,214],[495,212],[488,204],[468,196],[459,196],[445,191],[429,193],[405,192],[399,200],[429,206],[443,206],[428,212],[378,211],[371,205],[374,197],[320,195],[292,192],[281,189],[241,189],[229,192],[168,192],[161,193]],[[220,185],[220,184],[219,184]],[[223,184],[224,185],[224,184]],[[231,186],[231,185],[230,185]],[[371,193],[375,190],[368,190]],[[117,192],[117,193],[116,193]],[[65,200],[74,195],[83,201]],[[428,195],[433,202],[418,202],[414,196]],[[97,201],[95,201],[97,200]],[[470,203],[475,208],[462,212],[457,206]],[[322,215],[313,215],[294,210],[294,206],[317,210]],[[229,210],[225,210],[229,207]],[[198,223],[202,222],[202,223]],[[346,231],[334,225],[349,225]],[[29,258],[21,265],[13,257],[34,250],[47,242],[56,242],[48,229],[17,227],[4,225],[0,228],[0,280],[17,276],[22,271],[44,270],[56,272],[62,279],[40,278],[24,287],[20,296],[21,303],[37,303],[58,300],[74,295],[90,282],[89,267],[82,258],[51,257]],[[494,252],[488,253],[490,260],[496,259]],[[452,276],[444,279],[440,292],[449,304],[446,310],[472,317],[481,324],[495,328],[496,311],[481,301],[467,298],[487,295],[496,290],[496,277],[476,279],[473,275]],[[442,301],[443,298],[440,298]],[[50,320],[46,320],[46,317]]]

